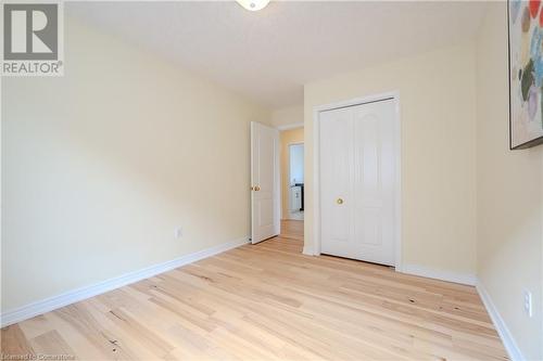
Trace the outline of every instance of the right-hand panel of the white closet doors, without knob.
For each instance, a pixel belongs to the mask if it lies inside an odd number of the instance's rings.
[[[394,265],[394,103],[353,107],[355,254]]]

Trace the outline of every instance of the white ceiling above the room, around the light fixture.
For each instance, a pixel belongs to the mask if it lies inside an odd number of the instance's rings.
[[[483,2],[66,2],[65,13],[269,107],[303,85],[473,37]],[[446,69],[444,69],[446,70]]]

